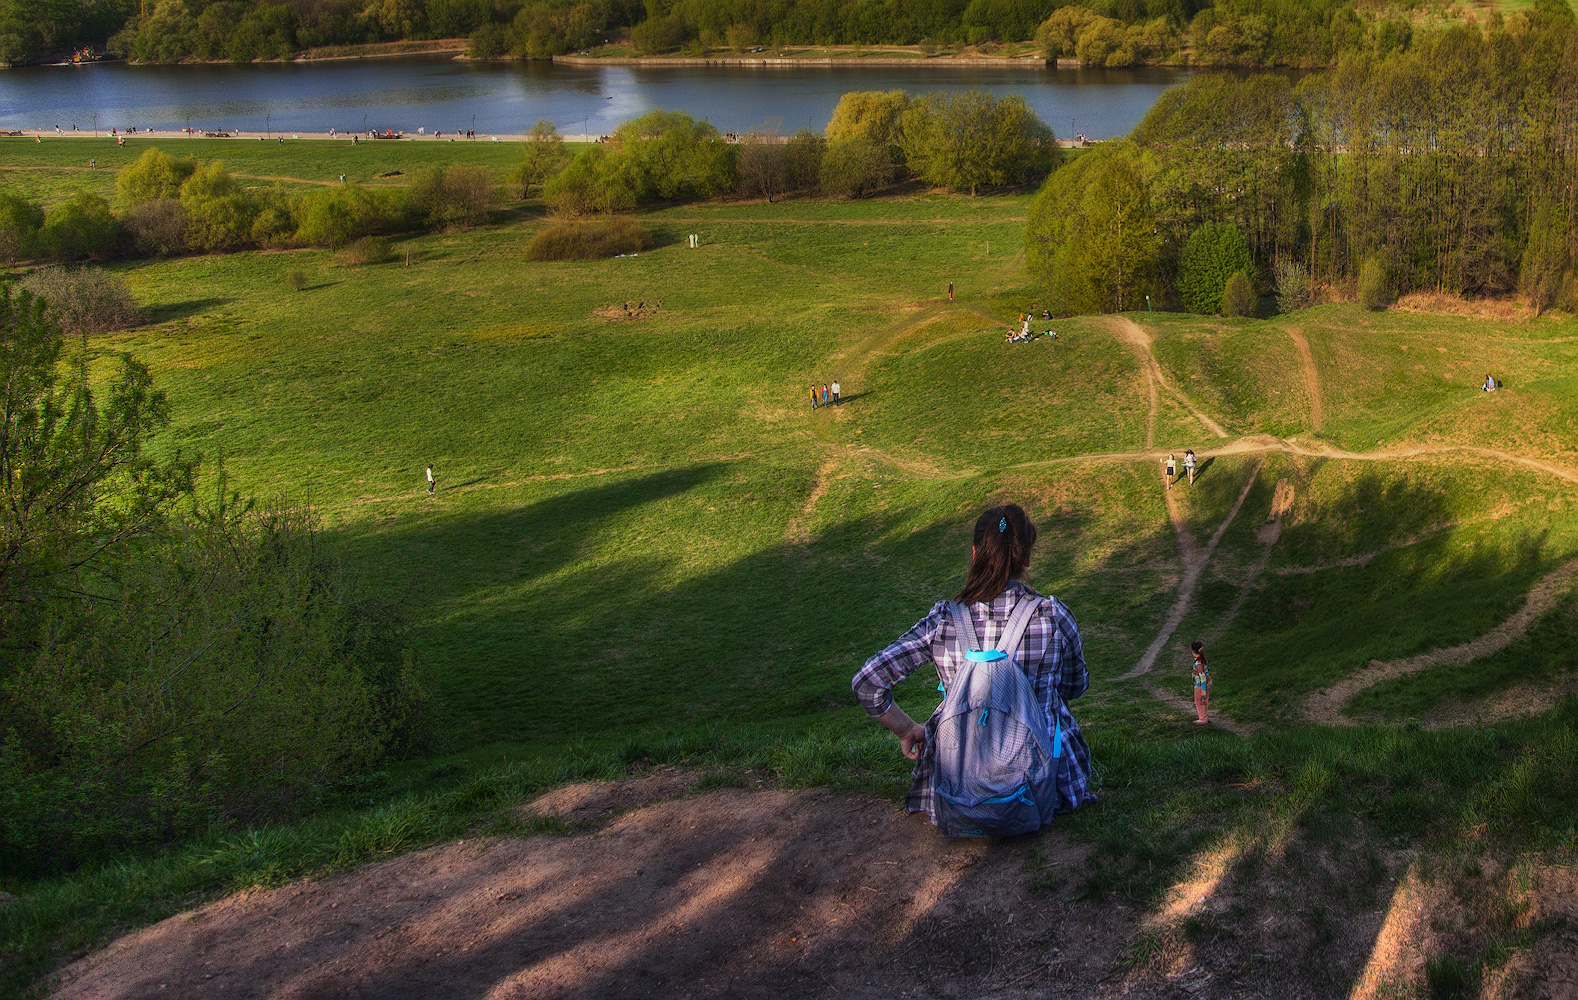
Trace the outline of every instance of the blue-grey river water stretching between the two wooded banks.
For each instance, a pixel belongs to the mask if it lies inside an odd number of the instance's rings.
[[[191,125],[327,132],[330,128],[524,132],[548,118],[567,134],[612,132],[652,109],[721,131],[827,125],[849,90],[1018,93],[1059,137],[1131,129],[1187,71],[1018,66],[644,68],[467,63],[447,57],[241,66],[27,66],[0,69],[0,128]],[[95,114],[98,115],[95,120]]]

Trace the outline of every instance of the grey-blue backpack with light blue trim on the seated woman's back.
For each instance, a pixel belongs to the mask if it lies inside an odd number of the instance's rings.
[[[1040,830],[1057,808],[1059,732],[1015,655],[1035,614],[1021,599],[994,650],[982,650],[969,610],[948,604],[964,666],[944,691],[933,730],[937,830],[950,838],[1005,838]]]

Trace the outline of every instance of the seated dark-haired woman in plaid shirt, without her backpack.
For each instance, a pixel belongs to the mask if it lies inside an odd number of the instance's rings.
[[[1035,702],[1045,711],[1043,737],[1056,748],[1054,811],[1071,812],[1095,801],[1090,792],[1090,748],[1079,735],[1079,724],[1067,705],[1086,692],[1090,674],[1079,642],[1079,626],[1068,609],[1057,598],[1045,598],[1018,579],[1030,566],[1034,546],[1035,525],[1019,505],[988,509],[975,522],[970,573],[956,601],[969,615],[983,650],[996,648],[1021,603],[1034,604],[1018,650],[1008,653],[1029,677]],[[893,685],[929,662],[937,669],[939,689],[952,689],[953,678],[966,661],[978,659],[967,656],[967,642],[958,631],[950,603],[939,601],[915,628],[868,659],[851,685],[866,713],[892,730],[903,754],[915,760],[906,808],[909,812],[925,812],[933,823],[937,823],[933,737],[939,715],[933,711],[925,726],[915,722],[893,702]]]

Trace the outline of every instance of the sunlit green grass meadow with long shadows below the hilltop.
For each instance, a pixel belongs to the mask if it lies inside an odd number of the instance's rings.
[[[69,188],[79,177],[58,159],[30,159],[63,145],[87,155],[82,140],[8,142],[0,183]],[[379,156],[360,162],[371,174],[431,155],[260,144],[246,159],[245,144],[207,145],[191,142],[303,183],[352,156]],[[511,166],[492,144],[453,148]],[[27,166],[49,169],[14,169]],[[1578,470],[1578,323],[1354,306],[1133,314],[1166,380],[1152,416],[1149,361],[1112,319],[1040,322],[1059,339],[1004,344],[1037,301],[1019,252],[1027,207],[677,207],[642,216],[650,252],[582,263],[527,262],[527,219],[410,238],[372,267],[320,251],[120,265],[151,322],[92,349],[153,368],[175,410],[159,446],[222,457],[243,492],[312,506],[366,587],[406,603],[428,756],[309,823],[218,833],[115,877],[5,886],[36,901],[0,912],[13,968],[204,893],[514,830],[508,803],[579,774],[707,762],[895,793],[906,768],[849,677],[956,590],[977,513],[1002,500],[1040,524],[1034,582],[1073,610],[1092,667],[1075,708],[1103,803],[1067,826],[1114,861],[1081,891],[1146,897],[1213,838],[1289,811],[1346,815],[1356,842],[1477,830],[1572,850],[1570,784],[1542,784],[1573,765],[1572,702],[1472,738],[1415,724],[1570,678],[1572,601],[1488,658],[1365,691],[1349,710],[1368,726],[1311,727],[1302,705],[1370,661],[1485,634],[1578,555],[1578,483],[1452,450]],[[286,281],[297,270],[301,292]],[[661,309],[598,314],[638,300]],[[1486,371],[1505,390],[1480,393]],[[835,379],[846,404],[813,413],[810,385]],[[1120,680],[1177,599],[1157,459],[1190,446],[1206,465],[1174,492],[1182,530],[1206,546],[1242,506],[1155,670]],[[1266,543],[1278,483],[1294,498]],[[1201,732],[1146,691],[1187,696],[1182,648],[1198,636],[1213,707],[1253,737]],[[901,703],[929,713],[934,678],[904,688]]]

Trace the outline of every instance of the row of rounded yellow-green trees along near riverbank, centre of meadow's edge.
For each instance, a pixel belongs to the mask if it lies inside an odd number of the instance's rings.
[[[865,197],[911,177],[975,194],[1043,177],[1059,159],[1053,131],[1019,96],[912,98],[893,90],[846,93],[825,137],[810,129],[787,139],[761,132],[739,145],[705,121],[658,110],[571,159],[554,126],[541,121],[516,180],[522,194],[541,185],[543,199],[562,215],[590,215],[731,191],[767,200]]]

